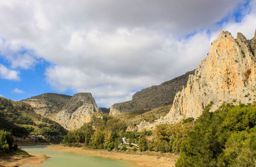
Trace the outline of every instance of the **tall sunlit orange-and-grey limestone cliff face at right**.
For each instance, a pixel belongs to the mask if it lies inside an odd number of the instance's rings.
[[[237,33],[237,39],[234,39],[227,31],[221,31],[195,75],[189,76],[186,88],[175,95],[170,113],[159,123],[198,118],[211,101],[214,102],[211,111],[218,109],[223,102],[246,104],[255,101],[255,44],[256,37],[246,40]]]

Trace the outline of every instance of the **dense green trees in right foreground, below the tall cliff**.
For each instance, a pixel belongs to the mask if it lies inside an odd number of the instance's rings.
[[[175,166],[256,166],[256,107],[223,104],[204,109],[182,142]]]

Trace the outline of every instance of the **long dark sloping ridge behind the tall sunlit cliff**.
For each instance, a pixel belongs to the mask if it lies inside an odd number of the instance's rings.
[[[132,96],[131,101],[113,104],[109,115],[118,115],[131,111],[148,111],[156,107],[172,104],[175,94],[182,90],[188,81],[188,76],[194,74],[194,72],[195,70],[187,72],[158,86],[151,86],[138,91]]]

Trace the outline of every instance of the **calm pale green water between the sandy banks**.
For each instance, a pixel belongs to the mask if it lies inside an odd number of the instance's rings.
[[[25,150],[26,152],[31,154],[45,154],[51,157],[50,159],[44,161],[44,163],[41,164],[40,167],[136,167],[135,165],[124,161],[116,161],[113,159],[93,157],[89,155],[58,152],[44,148],[44,146],[22,147],[22,150]]]

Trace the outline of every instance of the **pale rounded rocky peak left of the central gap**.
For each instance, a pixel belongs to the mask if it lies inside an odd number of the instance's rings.
[[[90,122],[93,113],[102,113],[95,103],[91,93],[77,93],[61,109],[56,116],[56,122],[65,129],[74,130],[84,123]]]

